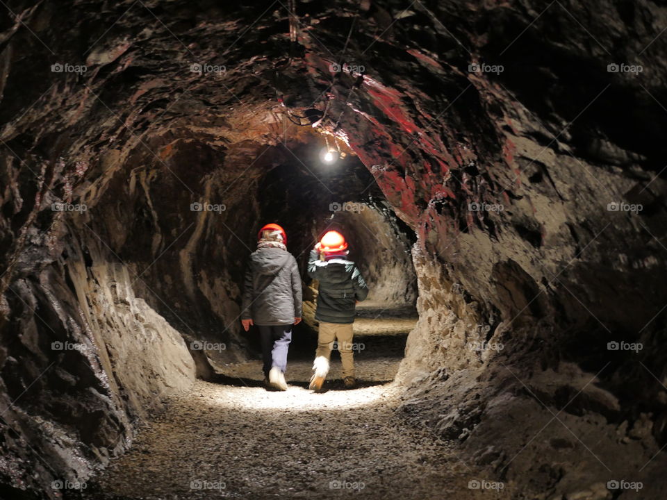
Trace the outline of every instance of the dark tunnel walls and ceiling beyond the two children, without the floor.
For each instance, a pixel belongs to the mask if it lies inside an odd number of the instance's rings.
[[[320,156],[324,144],[313,136],[298,147],[277,148],[283,155],[279,161],[270,160],[272,168],[257,182],[259,217],[247,238],[249,248],[254,250],[256,231],[265,222],[279,224],[288,234],[288,249],[302,271],[308,310],[305,321],[293,329],[290,356],[295,359],[311,356],[317,346],[313,316],[317,284],[308,277],[306,266],[315,242],[327,231],[345,235],[349,260],[358,263],[368,283],[369,297],[359,305],[363,317],[417,316],[417,282],[411,257],[414,232],[396,217],[356,155],[346,154],[331,165],[323,163]],[[406,333],[406,326],[401,328]],[[391,352],[400,357],[405,340],[405,335],[375,335],[364,345],[370,353]],[[379,344],[383,348],[374,349]],[[250,337],[249,348],[259,356],[259,339]],[[224,367],[220,371],[224,374]]]

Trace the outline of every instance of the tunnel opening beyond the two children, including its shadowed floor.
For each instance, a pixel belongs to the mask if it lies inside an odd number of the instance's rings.
[[[250,192],[256,197],[258,217],[249,227],[249,249],[241,260],[247,260],[249,250],[254,250],[255,235],[263,224],[274,222],[285,228],[288,251],[297,260],[304,285],[304,321],[293,329],[287,378],[304,386],[311,374],[306,368],[312,364],[318,338],[317,282],[306,272],[308,258],[315,242],[327,231],[345,235],[348,258],[359,266],[370,290],[356,307],[353,345],[360,369],[358,378],[361,385],[392,381],[407,336],[418,319],[417,278],[411,256],[415,234],[400,222],[372,174],[354,153],[327,164],[322,161],[322,137],[306,137],[304,142],[278,146],[267,153],[270,167]],[[215,370],[222,375],[217,380],[236,384],[261,380],[261,345],[256,331],[245,340],[252,361],[217,365]],[[332,387],[337,387],[341,377],[336,349],[332,362]],[[290,370],[290,365],[295,369]]]

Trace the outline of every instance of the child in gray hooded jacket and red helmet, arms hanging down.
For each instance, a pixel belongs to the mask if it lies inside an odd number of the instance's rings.
[[[251,325],[259,328],[265,385],[287,390],[292,326],[301,322],[302,314],[301,276],[281,226],[266,224],[258,240],[245,272],[241,324],[245,331]]]

